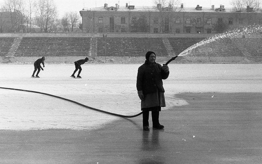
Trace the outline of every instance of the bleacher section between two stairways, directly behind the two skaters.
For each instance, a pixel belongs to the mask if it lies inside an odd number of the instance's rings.
[[[89,37],[23,37],[14,56],[88,56]]]

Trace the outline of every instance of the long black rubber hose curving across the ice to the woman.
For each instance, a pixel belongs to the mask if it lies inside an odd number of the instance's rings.
[[[96,108],[81,104],[79,102],[76,102],[74,100],[66,99],[66,98],[63,98],[63,97],[60,97],[60,96],[56,96],[56,95],[51,95],[51,94],[48,94],[48,93],[37,92],[37,91],[32,91],[32,90],[24,90],[24,89],[15,89],[15,88],[5,88],[5,87],[0,87],[0,88],[1,89],[10,89],[10,90],[20,90],[20,91],[25,91],[25,92],[32,92],[32,93],[39,93],[39,94],[43,94],[43,95],[48,95],[48,96],[52,96],[52,97],[56,97],[56,98],[59,98],[59,99],[66,100],[66,101],[73,102],[75,104],[81,105],[83,107],[86,107],[86,108],[89,108],[89,109],[92,109],[92,110],[95,110],[95,111],[111,114],[111,115],[118,116],[118,117],[132,118],[132,117],[137,117],[137,116],[139,116],[140,114],[143,113],[143,112],[140,112],[140,113],[133,115],[133,116],[124,116],[124,115],[121,115],[121,114],[116,114],[116,113],[111,113],[111,112],[103,111],[103,110],[100,110],[100,109],[96,109]]]

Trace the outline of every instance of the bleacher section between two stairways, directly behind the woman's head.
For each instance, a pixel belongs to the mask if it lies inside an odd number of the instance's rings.
[[[107,37],[96,38],[97,55],[145,55],[147,51],[154,51],[160,56],[168,55],[167,48],[160,37]]]

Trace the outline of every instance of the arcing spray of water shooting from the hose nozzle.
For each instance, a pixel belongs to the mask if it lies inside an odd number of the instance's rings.
[[[245,35],[245,34],[261,34],[262,33],[262,25],[250,25],[244,28],[236,28],[233,29],[231,31],[227,31],[225,33],[221,33],[218,35],[215,35],[214,37],[211,38],[207,38],[204,39],[190,47],[188,47],[187,49],[185,49],[184,51],[182,51],[181,53],[179,53],[178,56],[184,56],[189,54],[194,48],[202,46],[204,44],[210,43],[210,42],[214,42],[217,41],[219,39],[223,39],[223,38],[233,38],[239,35]]]

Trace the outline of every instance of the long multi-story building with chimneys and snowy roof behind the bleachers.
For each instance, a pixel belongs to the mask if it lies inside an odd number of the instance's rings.
[[[261,10],[247,7],[245,11],[235,11],[220,5],[215,8],[195,8],[171,5],[163,8],[119,7],[105,3],[103,7],[81,10],[83,32],[149,32],[149,33],[217,33],[227,29],[262,24]]]

